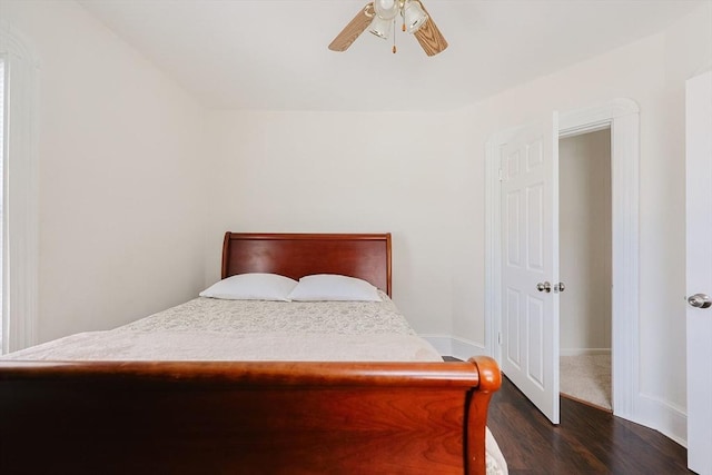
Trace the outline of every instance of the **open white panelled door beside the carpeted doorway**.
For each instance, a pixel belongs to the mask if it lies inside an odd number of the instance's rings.
[[[558,424],[558,116],[500,150],[502,370]]]

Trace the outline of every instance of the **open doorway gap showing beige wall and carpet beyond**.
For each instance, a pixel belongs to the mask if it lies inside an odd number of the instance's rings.
[[[611,129],[558,141],[560,392],[612,410]]]

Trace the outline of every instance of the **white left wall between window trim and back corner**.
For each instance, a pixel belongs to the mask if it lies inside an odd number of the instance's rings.
[[[75,2],[2,1],[39,63],[39,339],[204,285],[202,109]]]

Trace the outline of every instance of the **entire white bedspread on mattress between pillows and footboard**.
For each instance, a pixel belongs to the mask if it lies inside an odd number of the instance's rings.
[[[55,360],[442,362],[393,301],[196,298],[108,331],[7,355]]]

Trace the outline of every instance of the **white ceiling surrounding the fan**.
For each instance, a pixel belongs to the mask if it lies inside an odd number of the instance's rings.
[[[206,107],[447,110],[653,34],[710,0],[423,0],[449,43],[364,32],[367,0],[80,0]],[[712,27],[711,27],[712,29]]]

